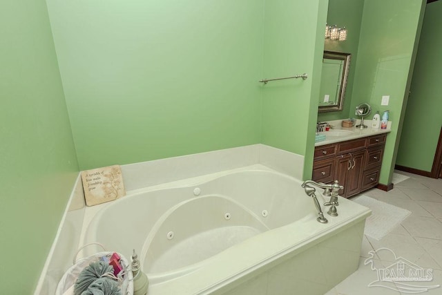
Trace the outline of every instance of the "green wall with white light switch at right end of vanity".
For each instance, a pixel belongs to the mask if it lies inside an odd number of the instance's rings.
[[[392,132],[385,145],[382,184],[391,183],[424,11],[425,1],[364,4],[350,110],[362,102],[368,102],[373,113],[390,110]],[[388,106],[381,106],[383,95],[390,95]]]

